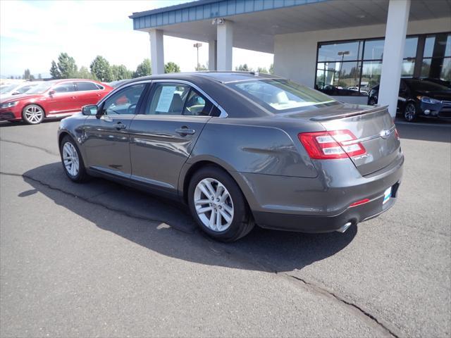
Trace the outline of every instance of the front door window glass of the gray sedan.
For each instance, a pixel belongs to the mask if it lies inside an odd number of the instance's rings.
[[[106,115],[135,114],[135,109],[145,84],[134,84],[125,87],[106,99],[103,112]]]

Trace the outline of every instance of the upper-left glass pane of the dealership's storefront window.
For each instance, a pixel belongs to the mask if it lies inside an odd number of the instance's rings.
[[[362,58],[362,41],[321,44],[318,61],[351,61]]]

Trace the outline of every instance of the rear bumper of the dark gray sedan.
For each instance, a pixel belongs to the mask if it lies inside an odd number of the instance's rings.
[[[401,151],[388,167],[363,177],[349,159],[332,161],[318,165],[321,175],[316,178],[241,173],[255,223],[277,230],[331,232],[373,218],[395,204],[404,163]],[[383,204],[388,187],[392,198]],[[362,199],[369,202],[350,207]]]

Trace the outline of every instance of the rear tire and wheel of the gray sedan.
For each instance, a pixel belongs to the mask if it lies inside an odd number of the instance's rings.
[[[254,227],[240,187],[228,173],[214,166],[192,176],[188,204],[199,227],[221,242],[234,242]]]

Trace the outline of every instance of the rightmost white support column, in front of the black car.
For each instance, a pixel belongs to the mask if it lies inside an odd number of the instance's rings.
[[[388,105],[388,111],[393,118],[396,116],[397,97],[400,90],[402,56],[409,23],[410,1],[390,0],[388,4],[378,104]]]

